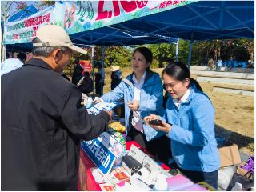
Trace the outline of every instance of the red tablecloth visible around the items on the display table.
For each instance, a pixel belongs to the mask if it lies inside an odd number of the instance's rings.
[[[142,146],[137,142],[126,142],[126,149],[130,150],[130,146],[137,146],[138,149],[142,150],[144,153],[149,154]],[[162,163],[160,166],[164,170],[170,170],[170,167]],[[96,167],[94,162],[86,155],[86,153],[81,149],[80,150],[80,167],[79,167],[79,179],[78,179],[78,190],[90,190],[90,191],[99,191],[102,190],[97,182],[95,182],[94,176],[91,173],[90,168]]]

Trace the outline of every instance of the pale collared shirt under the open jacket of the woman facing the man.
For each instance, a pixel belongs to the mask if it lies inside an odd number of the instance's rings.
[[[144,72],[144,74],[142,75],[141,80],[138,82],[135,74],[133,76],[133,81],[134,81],[134,101],[140,101],[141,100],[141,90],[142,90],[142,86],[145,82],[145,78],[146,78],[146,71]],[[141,116],[141,112],[137,111],[133,111],[133,118],[131,120],[131,124],[134,126],[134,128],[138,131],[141,131],[143,133],[143,124],[142,124],[142,116]]]

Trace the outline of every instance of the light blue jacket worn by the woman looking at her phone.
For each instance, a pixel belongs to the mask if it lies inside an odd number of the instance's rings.
[[[187,102],[179,110],[169,98],[166,122],[173,124],[167,134],[175,162],[184,170],[212,172],[218,170],[219,154],[214,133],[214,106],[194,84]]]

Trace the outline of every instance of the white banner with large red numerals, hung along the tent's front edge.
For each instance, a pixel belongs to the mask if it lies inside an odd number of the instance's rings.
[[[74,34],[170,10],[190,2],[192,1],[100,0],[56,3],[56,22],[64,26],[69,34]]]

